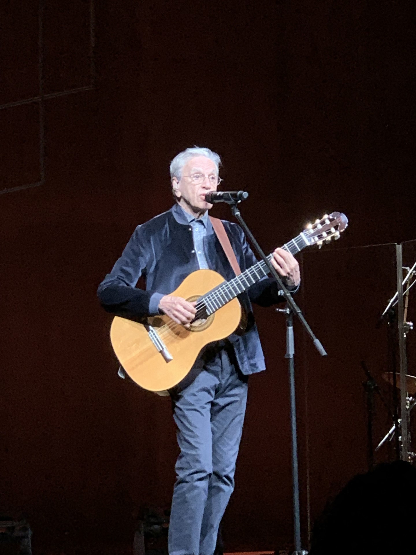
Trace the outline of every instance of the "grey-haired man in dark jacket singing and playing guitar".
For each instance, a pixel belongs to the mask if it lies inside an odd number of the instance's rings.
[[[138,320],[164,314],[189,327],[196,302],[172,295],[198,269],[216,270],[226,280],[235,274],[219,243],[205,200],[220,183],[219,155],[188,148],[170,165],[176,204],[139,225],[113,270],[98,288],[103,307]],[[241,228],[223,221],[242,271],[256,263]],[[291,291],[300,283],[290,252],[273,251],[271,262]],[[145,290],[136,288],[140,276]],[[212,555],[230,495],[246,408],[248,375],[265,370],[251,302],[270,306],[283,301],[278,286],[263,278],[239,295],[247,315],[243,334],[232,334],[205,349],[188,379],[170,391],[180,455],[177,459],[169,524],[170,555]]]

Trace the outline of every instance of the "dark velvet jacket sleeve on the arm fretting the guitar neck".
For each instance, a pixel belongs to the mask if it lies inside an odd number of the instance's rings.
[[[240,241],[243,249],[243,256],[245,261],[245,268],[250,268],[257,263],[257,259],[247,242],[246,236],[240,226],[236,226],[239,230]],[[284,283],[283,279],[283,283]],[[296,293],[299,286],[287,287],[291,294]],[[253,284],[250,289],[248,289],[248,296],[251,302],[260,306],[271,306],[278,304],[279,302],[285,302],[285,297],[280,287],[273,278],[265,276],[261,280]]]

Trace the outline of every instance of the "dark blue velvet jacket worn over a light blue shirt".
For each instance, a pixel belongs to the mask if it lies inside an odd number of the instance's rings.
[[[241,271],[256,263],[239,225],[223,221]],[[138,225],[123,254],[113,270],[105,276],[98,287],[98,297],[105,310],[125,318],[138,319],[150,316],[150,297],[159,292],[171,294],[191,272],[199,270],[190,225],[180,224],[172,210],[159,214]],[[206,260],[212,270],[226,280],[235,277],[217,236],[204,238]],[[146,290],[136,288],[140,276],[144,276]],[[204,293],[202,291],[201,293]],[[278,286],[270,278],[263,278],[248,291],[239,295],[246,311],[248,326],[243,336],[231,335],[237,362],[243,374],[265,370],[265,360],[252,314],[251,301],[270,306],[283,301]]]

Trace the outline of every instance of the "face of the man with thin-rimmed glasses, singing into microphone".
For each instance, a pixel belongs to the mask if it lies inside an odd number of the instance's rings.
[[[204,181],[197,185],[192,180],[193,176],[204,175]],[[188,160],[183,166],[181,178],[178,181],[175,177],[172,179],[174,193],[179,199],[179,204],[186,211],[197,215],[204,213],[205,210],[212,208],[212,204],[205,201],[205,195],[209,191],[215,191],[217,185],[211,183],[210,176],[217,176],[217,169],[214,162],[205,156],[195,156]]]

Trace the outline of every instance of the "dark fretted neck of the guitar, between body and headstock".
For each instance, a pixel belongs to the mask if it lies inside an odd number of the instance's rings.
[[[300,253],[302,249],[308,246],[307,239],[300,233],[295,239],[292,239],[288,243],[282,246],[283,250],[288,253],[296,255]],[[273,254],[267,256],[267,260],[271,260]],[[199,301],[203,301],[206,306],[207,314],[213,314],[216,310],[219,310],[222,306],[226,305],[232,299],[235,299],[237,295],[246,291],[248,287],[251,287],[257,281],[260,281],[267,274],[270,273],[266,263],[261,260],[257,262],[251,268],[243,271],[240,275],[236,276],[230,281],[225,281],[221,285],[215,287],[211,291],[207,292],[205,295],[200,297]]]

